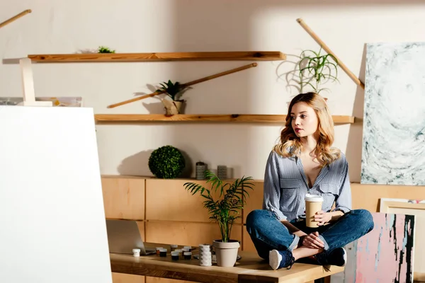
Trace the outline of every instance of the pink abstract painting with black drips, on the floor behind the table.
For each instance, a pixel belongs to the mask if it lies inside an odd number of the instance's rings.
[[[413,282],[415,216],[372,215],[374,229],[346,246],[345,270],[331,283]]]

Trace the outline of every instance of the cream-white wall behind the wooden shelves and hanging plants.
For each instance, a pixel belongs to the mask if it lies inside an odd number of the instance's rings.
[[[0,21],[27,8],[33,13],[0,29],[2,59],[27,54],[73,53],[106,45],[117,52],[280,50],[285,62],[259,62],[254,69],[200,83],[185,94],[186,113],[285,114],[297,94],[284,76],[294,55],[317,43],[295,21],[303,18],[354,74],[364,77],[366,42],[424,41],[425,3],[392,0],[328,1],[194,0],[0,0]],[[399,3],[398,3],[399,2]],[[18,64],[0,65],[1,96],[21,96]],[[13,63],[13,60],[12,60]],[[161,62],[37,64],[37,96],[83,96],[96,113],[162,113],[157,98],[107,109],[150,93],[147,85],[168,79],[187,82],[249,62]],[[328,86],[334,115],[363,116],[363,91],[340,69]],[[360,180],[362,125],[336,127],[335,146]],[[224,164],[233,177],[263,178],[278,125],[149,124],[97,127],[103,174],[152,175],[149,155],[171,144],[188,163]],[[48,142],[48,141],[46,141]]]

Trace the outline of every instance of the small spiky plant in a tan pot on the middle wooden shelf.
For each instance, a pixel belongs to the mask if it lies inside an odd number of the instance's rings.
[[[175,115],[183,113],[183,103],[185,102],[185,100],[179,98],[181,98],[184,91],[186,91],[189,87],[182,85],[181,83],[179,83],[179,81],[173,83],[171,80],[169,80],[168,82],[164,81],[160,84],[161,87],[157,90],[157,92],[165,93],[171,98],[171,101],[162,99],[166,115]]]

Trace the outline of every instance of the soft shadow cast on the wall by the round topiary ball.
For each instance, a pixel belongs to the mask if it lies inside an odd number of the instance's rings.
[[[186,162],[186,166],[183,169],[183,172],[179,178],[190,178],[193,171],[191,157],[186,154],[185,151],[181,151]],[[152,176],[152,172],[149,170],[149,157],[151,156],[154,150],[140,151],[137,154],[128,156],[121,161],[120,166],[118,166],[118,173],[120,175],[137,175],[137,176]]]

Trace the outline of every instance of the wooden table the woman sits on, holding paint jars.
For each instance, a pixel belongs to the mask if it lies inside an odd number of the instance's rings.
[[[169,245],[145,243],[146,247],[162,246],[169,249]],[[196,254],[196,250],[193,254]],[[220,283],[261,283],[261,282],[310,282],[329,275],[344,271],[344,267],[331,266],[327,271],[320,265],[295,263],[290,270],[271,270],[267,262],[259,258],[256,253],[239,251],[241,259],[234,267],[200,266],[198,260],[171,260],[167,253],[166,258],[158,255],[145,255],[135,258],[132,255],[111,253],[112,272],[131,275],[145,275],[171,279],[181,279],[195,282]]]

